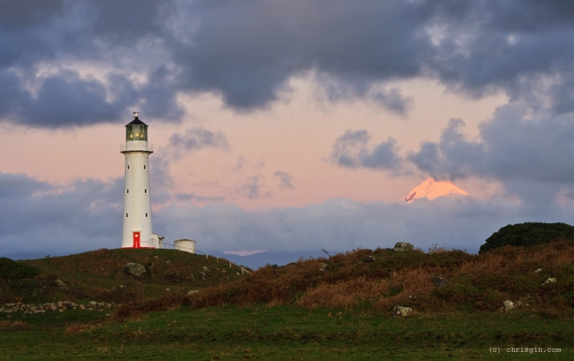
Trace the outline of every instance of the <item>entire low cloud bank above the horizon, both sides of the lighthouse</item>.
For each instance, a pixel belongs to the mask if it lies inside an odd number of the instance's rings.
[[[120,247],[123,179],[57,186],[0,173],[0,185],[3,256],[43,257]],[[197,207],[185,202],[196,195],[175,196],[183,201],[154,211],[154,231],[168,240],[195,239],[204,252],[266,249],[303,254],[321,248],[342,252],[388,248],[399,241],[423,250],[436,243],[476,252],[504,225],[568,223],[574,212],[568,199],[540,208],[504,197],[423,199],[412,204],[332,199],[307,207],[246,211],[221,202]]]

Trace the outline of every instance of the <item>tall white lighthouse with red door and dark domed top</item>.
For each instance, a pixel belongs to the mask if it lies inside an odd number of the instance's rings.
[[[150,198],[150,154],[148,125],[134,120],[125,126],[124,228],[122,248],[155,248],[152,241],[152,201]]]

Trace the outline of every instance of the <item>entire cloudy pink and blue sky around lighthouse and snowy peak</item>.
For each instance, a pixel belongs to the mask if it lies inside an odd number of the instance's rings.
[[[0,3],[0,257],[121,245],[133,111],[152,222],[205,252],[477,252],[572,223],[568,1]],[[401,198],[428,177],[465,197]]]

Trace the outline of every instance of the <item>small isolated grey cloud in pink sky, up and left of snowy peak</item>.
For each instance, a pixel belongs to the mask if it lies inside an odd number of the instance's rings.
[[[370,145],[371,136],[366,130],[347,130],[335,140],[331,149],[330,161],[337,166],[348,168],[372,168],[401,171],[402,159],[398,154],[397,141],[387,141]]]

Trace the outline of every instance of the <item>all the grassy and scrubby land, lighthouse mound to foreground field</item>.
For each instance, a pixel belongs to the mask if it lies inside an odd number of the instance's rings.
[[[229,264],[168,250],[29,260],[39,275],[9,286],[3,280],[3,294],[125,298],[109,316],[0,313],[0,360],[483,360],[491,353],[502,360],[572,360],[573,260],[568,240],[480,255],[353,250],[250,275],[230,275]],[[152,276],[126,278],[127,262],[152,265]],[[211,275],[198,280],[203,266]],[[166,278],[174,271],[196,281],[174,284]],[[438,287],[436,276],[448,282]],[[69,290],[58,289],[55,277]],[[543,284],[548,278],[556,282]],[[120,286],[141,292],[125,296]],[[189,289],[200,291],[186,294]],[[504,300],[516,307],[501,311]],[[397,305],[413,311],[395,318]]]

